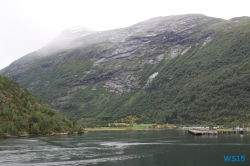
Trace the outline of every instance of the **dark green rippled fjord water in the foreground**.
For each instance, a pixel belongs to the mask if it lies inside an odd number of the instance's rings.
[[[244,162],[225,162],[244,155]],[[250,135],[193,136],[186,131],[106,131],[0,139],[0,165],[250,165]]]

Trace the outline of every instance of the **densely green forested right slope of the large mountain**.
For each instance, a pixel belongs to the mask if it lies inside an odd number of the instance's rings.
[[[110,122],[134,115],[137,123],[248,125],[250,20],[218,27],[206,47],[193,45],[185,56],[161,64],[146,91],[122,94],[101,107],[102,115]]]

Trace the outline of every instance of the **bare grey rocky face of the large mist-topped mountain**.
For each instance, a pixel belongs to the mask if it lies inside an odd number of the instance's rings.
[[[132,94],[157,89],[153,82],[168,72],[166,66],[173,59],[181,59],[184,65],[188,56],[206,50],[222,29],[226,33],[239,20],[229,23],[204,15],[179,15],[110,31],[69,29],[1,73],[66,115],[102,119],[111,116],[101,110],[108,109],[108,103],[132,103],[136,98]]]

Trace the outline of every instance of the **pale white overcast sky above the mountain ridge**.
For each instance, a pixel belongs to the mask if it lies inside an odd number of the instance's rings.
[[[250,16],[249,0],[0,0],[0,69],[46,45],[64,29],[123,28],[157,17]]]

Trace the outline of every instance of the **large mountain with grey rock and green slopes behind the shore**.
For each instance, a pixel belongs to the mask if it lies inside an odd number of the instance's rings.
[[[62,33],[1,70],[63,114],[88,125],[246,124],[250,18],[190,14],[127,28]],[[54,43],[54,44],[53,44]],[[63,42],[64,43],[64,42]]]

